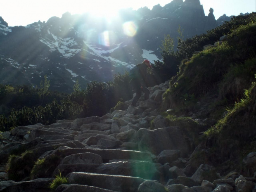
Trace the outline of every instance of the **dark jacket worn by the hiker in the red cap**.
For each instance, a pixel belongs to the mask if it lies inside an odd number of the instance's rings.
[[[147,65],[146,64],[137,64],[135,66],[137,69],[136,77],[133,77],[130,82],[133,84],[136,82],[143,87],[147,87]]]

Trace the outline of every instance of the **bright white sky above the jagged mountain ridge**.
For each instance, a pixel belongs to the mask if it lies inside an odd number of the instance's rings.
[[[0,17],[8,26],[26,26],[34,22],[47,21],[51,17],[62,17],[65,12],[83,14],[90,12],[98,16],[114,17],[121,8],[140,7],[152,9],[162,7],[172,0],[0,0]],[[185,0],[183,0],[185,1]],[[256,12],[256,0],[200,0],[207,16],[213,8],[215,19],[223,14],[239,15],[241,12]]]

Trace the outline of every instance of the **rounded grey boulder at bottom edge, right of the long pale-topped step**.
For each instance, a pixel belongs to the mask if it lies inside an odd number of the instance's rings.
[[[138,192],[166,192],[164,185],[153,180],[145,180],[140,184]]]

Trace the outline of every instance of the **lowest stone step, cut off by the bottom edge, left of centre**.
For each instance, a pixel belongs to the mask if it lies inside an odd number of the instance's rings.
[[[55,192],[117,192],[113,190],[102,189],[99,187],[92,187],[88,185],[59,185],[59,187],[55,190]]]

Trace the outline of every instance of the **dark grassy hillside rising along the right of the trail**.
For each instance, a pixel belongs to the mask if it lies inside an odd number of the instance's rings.
[[[204,122],[199,137],[202,150],[191,162],[219,166],[224,174],[242,171],[245,176],[252,173],[243,167],[242,159],[256,151],[255,13],[247,21],[223,34],[225,41],[180,64],[162,104],[162,110],[175,109],[172,114],[197,113],[197,118],[215,120]]]

